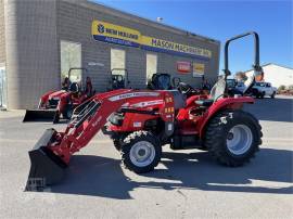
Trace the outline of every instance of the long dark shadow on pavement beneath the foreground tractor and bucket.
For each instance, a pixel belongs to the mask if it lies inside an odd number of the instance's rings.
[[[162,163],[167,169],[145,173],[148,182],[127,178],[117,159],[77,155],[65,180],[50,192],[118,199],[131,198],[129,192],[138,188],[292,194],[292,155],[291,151],[263,149],[251,164],[228,168],[217,165],[206,152],[164,153]],[[157,182],[160,179],[164,182]]]

